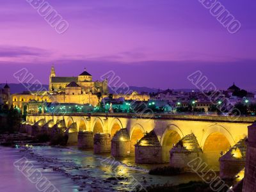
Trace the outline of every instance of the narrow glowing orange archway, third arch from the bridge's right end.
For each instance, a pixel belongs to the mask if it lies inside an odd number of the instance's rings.
[[[144,136],[144,129],[141,125],[139,124],[136,124],[132,130],[131,130],[131,136],[130,136],[130,139],[131,139],[131,156],[135,156],[135,147],[134,145],[136,145],[136,143],[141,139],[143,138]]]

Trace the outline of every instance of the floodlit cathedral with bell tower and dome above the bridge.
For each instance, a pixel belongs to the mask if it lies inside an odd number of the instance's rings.
[[[77,77],[58,77],[54,67],[51,68],[49,77],[50,92],[65,92],[67,95],[79,95],[88,93],[108,94],[108,81],[92,81],[92,75],[86,69]]]

